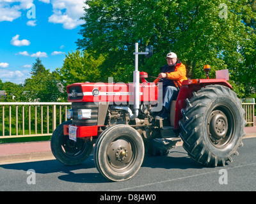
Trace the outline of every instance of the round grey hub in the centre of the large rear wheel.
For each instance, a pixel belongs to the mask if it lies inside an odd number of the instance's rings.
[[[211,113],[207,125],[212,142],[218,143],[225,138],[228,131],[228,119],[225,113],[215,110]]]

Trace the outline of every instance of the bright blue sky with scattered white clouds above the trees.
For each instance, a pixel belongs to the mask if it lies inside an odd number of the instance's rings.
[[[0,0],[0,78],[21,84],[40,57],[46,69],[76,50],[84,0]]]

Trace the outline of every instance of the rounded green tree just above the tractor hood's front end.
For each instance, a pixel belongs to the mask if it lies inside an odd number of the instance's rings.
[[[104,62],[104,56],[93,57],[95,52],[79,51],[68,52],[63,66],[57,68],[63,87],[78,82],[98,82],[100,81],[101,72],[99,66]]]

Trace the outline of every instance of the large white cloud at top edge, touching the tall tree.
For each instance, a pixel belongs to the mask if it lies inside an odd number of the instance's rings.
[[[84,23],[84,0],[52,0],[53,14],[48,18],[54,24],[63,24],[65,29],[74,29]]]

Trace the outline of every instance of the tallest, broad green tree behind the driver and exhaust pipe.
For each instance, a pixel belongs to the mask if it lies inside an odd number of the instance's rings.
[[[210,77],[215,77],[216,70],[228,68],[230,82],[237,91],[243,89],[237,78],[243,75],[245,59],[253,57],[253,50],[245,52],[244,48],[252,46],[255,38],[252,23],[256,15],[251,0],[87,0],[85,3],[88,6],[81,18],[85,23],[76,43],[79,49],[106,55],[100,66],[102,73],[118,73],[118,80],[131,81],[132,53],[134,43],[138,42],[142,51],[146,45],[154,47],[152,58],[140,56],[140,70],[148,75],[156,76],[159,67],[166,63],[166,53],[172,51],[186,65],[188,77],[204,78],[204,64],[210,64]],[[244,19],[250,20],[250,25]]]

